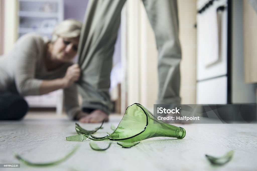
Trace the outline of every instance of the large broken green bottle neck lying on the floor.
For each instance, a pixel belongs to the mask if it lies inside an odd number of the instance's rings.
[[[158,120],[144,106],[134,103],[128,106],[126,112],[114,132],[108,136],[95,138],[92,140],[110,140],[133,143],[152,137],[175,137],[184,138],[186,131],[184,128],[167,124]],[[101,139],[103,138],[103,139]]]

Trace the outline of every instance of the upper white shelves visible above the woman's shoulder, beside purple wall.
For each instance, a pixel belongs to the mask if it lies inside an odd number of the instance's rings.
[[[50,38],[63,16],[63,0],[19,0],[19,37],[35,32]]]

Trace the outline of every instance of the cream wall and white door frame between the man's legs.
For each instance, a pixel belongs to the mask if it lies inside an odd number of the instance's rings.
[[[142,1],[126,2],[121,28],[121,54],[125,73],[121,85],[121,113],[133,103],[140,103],[151,110],[157,100],[158,53]]]

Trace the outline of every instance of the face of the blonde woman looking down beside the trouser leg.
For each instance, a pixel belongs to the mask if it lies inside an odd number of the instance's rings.
[[[77,54],[79,37],[62,38],[58,37],[53,43],[52,56],[60,62],[70,62]]]

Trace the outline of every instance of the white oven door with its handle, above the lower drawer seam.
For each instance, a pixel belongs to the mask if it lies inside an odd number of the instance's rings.
[[[197,9],[208,0],[199,0]],[[214,1],[212,5],[197,14],[197,80],[227,74],[227,21],[228,10],[217,12],[226,6],[227,0]]]

